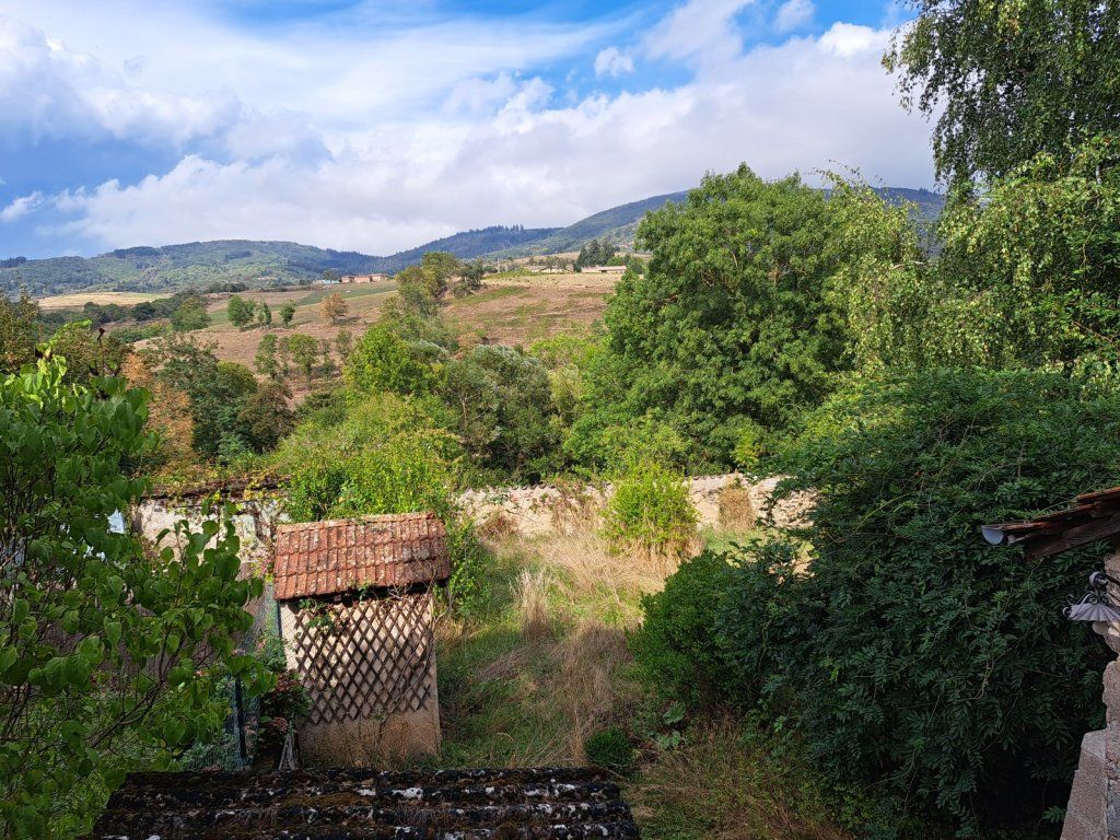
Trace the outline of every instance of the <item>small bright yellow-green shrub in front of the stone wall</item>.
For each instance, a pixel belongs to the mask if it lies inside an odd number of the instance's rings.
[[[604,531],[617,550],[678,559],[696,536],[697,513],[682,477],[655,464],[633,467],[615,483]]]

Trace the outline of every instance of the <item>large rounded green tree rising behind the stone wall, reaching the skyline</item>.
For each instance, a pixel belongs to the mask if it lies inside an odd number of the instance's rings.
[[[653,255],[607,307],[571,449],[594,451],[603,429],[650,413],[710,467],[730,460],[745,428],[792,428],[848,366],[830,295],[836,234],[820,190],[745,166],[647,214],[637,235]]]

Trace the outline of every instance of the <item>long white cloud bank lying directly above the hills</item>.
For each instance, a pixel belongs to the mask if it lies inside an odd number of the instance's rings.
[[[717,41],[719,36],[716,36]],[[765,177],[855,167],[931,183],[927,127],[879,66],[885,30],[726,53],[693,81],[559,104],[538,77],[468,77],[433,113],[231,162],[184,158],[136,185],[57,197],[68,235],[105,248],[283,239],[391,253],[486,224],[567,224],[746,161]],[[698,41],[693,41],[698,43]]]

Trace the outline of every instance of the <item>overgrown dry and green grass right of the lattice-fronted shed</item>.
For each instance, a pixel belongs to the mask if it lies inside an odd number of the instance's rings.
[[[727,544],[744,532],[701,532]],[[624,732],[615,768],[650,840],[847,837],[778,739],[718,710],[685,716],[635,670],[628,634],[644,594],[671,571],[608,550],[590,522],[573,533],[487,538],[486,600],[437,628],[444,740],[430,766],[576,766],[588,739]]]

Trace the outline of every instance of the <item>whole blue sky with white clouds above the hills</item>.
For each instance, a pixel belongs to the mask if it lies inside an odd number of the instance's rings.
[[[0,256],[384,254],[746,161],[930,187],[886,0],[0,0]]]

